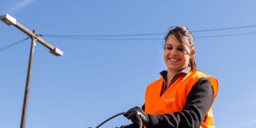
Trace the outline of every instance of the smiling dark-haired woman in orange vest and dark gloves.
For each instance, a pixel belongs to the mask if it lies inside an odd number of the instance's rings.
[[[198,71],[194,36],[186,26],[176,26],[166,35],[162,78],[146,88],[145,104],[124,116],[137,128],[138,115],[146,128],[214,128],[211,106],[218,94],[218,81]]]

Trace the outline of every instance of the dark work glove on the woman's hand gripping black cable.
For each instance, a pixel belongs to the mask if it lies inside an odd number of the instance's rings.
[[[137,122],[139,124],[136,115],[138,115],[138,117],[142,119],[143,126],[147,126],[148,123],[150,122],[149,116],[144,112],[144,110],[142,110],[138,106],[135,106],[134,108],[128,110],[125,114],[123,114],[123,116],[130,119],[131,122]]]

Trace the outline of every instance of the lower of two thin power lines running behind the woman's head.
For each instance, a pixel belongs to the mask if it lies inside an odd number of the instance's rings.
[[[201,36],[201,37],[194,37],[194,38],[218,38],[218,37],[227,37],[227,36],[238,36],[238,35],[246,35],[246,34],[256,34],[253,33],[242,33],[242,34],[219,34],[219,35],[210,35],[210,36]],[[70,37],[48,37],[48,38],[70,38]],[[164,38],[70,38],[70,39],[83,39],[83,40],[163,40]]]

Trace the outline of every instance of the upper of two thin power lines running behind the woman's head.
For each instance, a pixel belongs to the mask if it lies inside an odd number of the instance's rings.
[[[228,27],[222,29],[212,29],[212,30],[194,30],[191,31],[192,33],[198,32],[206,32],[206,31],[217,31],[217,30],[234,30],[234,29],[242,29],[242,28],[249,28],[255,27],[253,26],[237,26],[237,27]],[[43,36],[46,37],[128,37],[128,36],[149,36],[149,35],[162,35],[166,33],[155,33],[155,34],[113,34],[113,35],[60,35],[60,34],[44,34]]]

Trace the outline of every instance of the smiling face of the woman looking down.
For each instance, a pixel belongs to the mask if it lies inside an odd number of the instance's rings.
[[[190,52],[190,49],[185,47]],[[186,50],[183,49],[182,43],[173,34],[168,36],[163,56],[168,71],[178,73],[186,69],[190,62],[190,55],[186,54]]]

